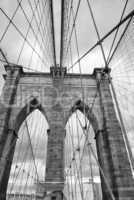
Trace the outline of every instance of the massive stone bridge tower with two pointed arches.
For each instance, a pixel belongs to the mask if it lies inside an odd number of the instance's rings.
[[[103,200],[133,200],[134,180],[109,79],[103,69],[95,69],[92,75],[67,74],[66,69],[60,67],[52,67],[50,73],[28,73],[20,66],[5,66],[5,69],[7,74],[0,99],[0,199],[6,199],[19,127],[34,109],[45,115],[50,127],[45,198],[63,199],[65,126],[71,114],[79,109],[95,132],[98,160],[106,177],[105,180],[100,173]],[[86,101],[82,98],[81,79]],[[89,105],[97,91],[91,110]],[[47,197],[47,192],[51,192],[51,197]]]

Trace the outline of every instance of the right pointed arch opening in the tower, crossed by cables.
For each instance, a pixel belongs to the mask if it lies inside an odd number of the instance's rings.
[[[95,133],[82,107],[75,108],[66,124],[64,193],[71,200],[102,200]]]

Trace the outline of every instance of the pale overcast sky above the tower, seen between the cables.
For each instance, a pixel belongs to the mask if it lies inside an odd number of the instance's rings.
[[[13,3],[14,2],[14,3]],[[1,0],[0,7],[3,8],[6,13],[11,17],[15,8],[17,7],[17,0],[11,2],[10,0]],[[74,12],[76,11],[76,5],[78,0],[74,0]],[[125,0],[91,0],[92,9],[94,12],[95,20],[100,32],[100,36],[104,36],[114,25],[119,22]],[[126,14],[133,8],[133,0],[129,0]],[[26,0],[22,1],[22,5],[25,8],[29,19],[31,17],[31,12],[29,5]],[[8,20],[0,13],[0,27],[2,36],[5,27],[7,26]],[[14,22],[18,28],[26,35],[26,30],[28,24],[26,23],[25,17],[22,11],[19,9],[16,16],[14,17]],[[56,40],[56,54],[57,54],[57,63],[59,63],[59,52],[60,52],[60,0],[54,1],[54,22],[55,22],[55,40]],[[78,46],[80,55],[82,55],[87,49],[89,49],[98,39],[93,27],[89,9],[87,6],[86,0],[81,1],[80,10],[78,13],[78,18],[76,21],[77,37],[78,37]],[[36,25],[33,21],[33,27]],[[74,34],[73,34],[74,35]],[[105,48],[105,53],[108,52],[108,49],[111,45],[113,35],[106,40],[103,45]],[[29,33],[28,40],[33,44],[33,34]],[[1,47],[6,53],[9,61],[16,63],[17,57],[22,46],[23,39],[19,36],[17,31],[10,26],[7,31],[6,37],[1,42]],[[7,47],[8,46],[8,47]],[[38,49],[38,45],[36,46]],[[73,60],[77,59],[76,47],[74,47],[74,36],[72,39],[72,51],[73,51]],[[23,53],[19,60],[19,64],[22,64],[24,67],[28,67],[28,61],[31,56],[30,47],[25,44]],[[40,63],[36,62],[37,56],[34,55],[33,62],[31,63],[31,68],[36,68],[36,70],[45,70],[48,71],[49,67],[44,66],[44,69],[40,68]],[[37,67],[38,63],[38,67]],[[51,64],[51,63],[50,63]],[[36,65],[36,66],[35,66]],[[98,67],[103,65],[103,60],[100,51],[95,49],[83,62],[82,69],[84,72],[91,72],[93,67]],[[90,66],[90,67],[89,67]],[[92,67],[93,66],[93,67]],[[77,68],[77,67],[76,67]],[[75,70],[75,68],[74,68]],[[78,70],[77,70],[78,71]]]

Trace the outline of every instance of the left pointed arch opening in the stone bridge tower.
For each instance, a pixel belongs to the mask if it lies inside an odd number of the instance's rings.
[[[23,117],[18,118],[19,124]],[[17,130],[18,126],[16,127]],[[31,110],[21,124],[10,171],[7,199],[36,197],[38,184],[45,181],[48,128],[47,120],[39,109]]]

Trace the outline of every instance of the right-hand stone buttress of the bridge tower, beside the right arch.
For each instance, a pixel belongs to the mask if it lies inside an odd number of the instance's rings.
[[[110,93],[109,79],[100,70],[96,71],[96,76],[100,77],[97,81],[104,123],[103,130],[96,138],[98,158],[106,179],[102,178],[103,198],[110,198],[107,181],[115,199],[130,200],[134,198],[134,180]]]

